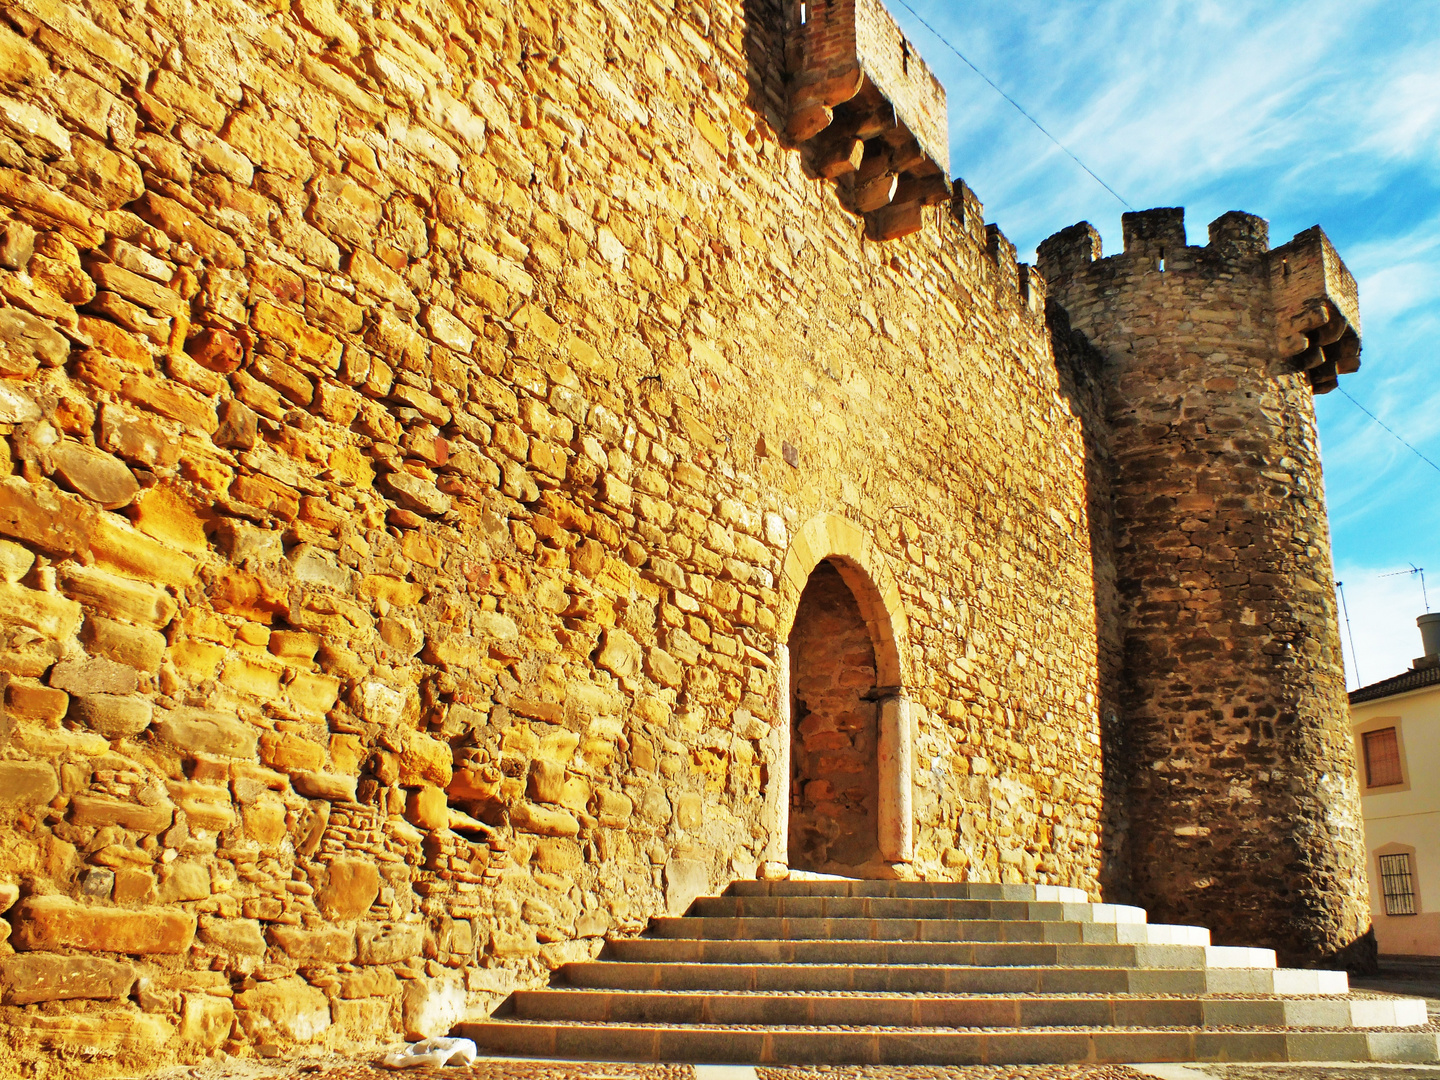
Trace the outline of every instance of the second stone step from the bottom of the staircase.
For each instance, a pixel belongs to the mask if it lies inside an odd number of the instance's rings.
[[[760,1024],[956,1028],[1309,1027],[1427,1022],[1418,998],[855,994],[766,991],[516,991],[508,1015],[590,1024]]]

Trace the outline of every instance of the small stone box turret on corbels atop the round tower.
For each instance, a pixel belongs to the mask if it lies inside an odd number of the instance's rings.
[[[1305,372],[1315,393],[1329,393],[1359,370],[1355,278],[1318,225],[1272,251],[1269,272],[1284,370]]]

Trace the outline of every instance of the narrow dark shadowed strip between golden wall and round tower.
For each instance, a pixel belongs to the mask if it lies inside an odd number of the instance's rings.
[[[1129,863],[1129,806],[1126,791],[1130,760],[1120,720],[1123,645],[1115,564],[1115,501],[1110,458],[1110,423],[1106,416],[1104,359],[1084,336],[1070,328],[1070,317],[1057,302],[1045,304],[1060,392],[1080,419],[1084,438],[1086,518],[1090,526],[1092,577],[1100,716],[1100,768],[1104,805],[1100,808],[1100,888],[1110,903],[1133,897]]]

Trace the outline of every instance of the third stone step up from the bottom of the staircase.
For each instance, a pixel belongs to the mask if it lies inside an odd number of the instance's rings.
[[[1349,991],[1342,971],[1296,968],[969,968],[831,963],[567,963],[592,989],[871,991],[907,994],[1272,994]]]

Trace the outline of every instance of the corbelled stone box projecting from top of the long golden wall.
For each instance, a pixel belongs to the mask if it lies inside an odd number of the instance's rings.
[[[950,200],[945,88],[880,0],[792,3],[786,138],[871,239],[917,232]]]

